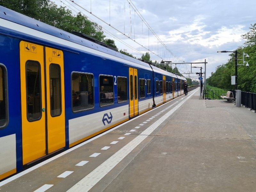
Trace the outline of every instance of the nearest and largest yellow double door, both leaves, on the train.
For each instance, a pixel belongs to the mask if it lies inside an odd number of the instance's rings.
[[[22,161],[65,147],[63,52],[20,42]]]

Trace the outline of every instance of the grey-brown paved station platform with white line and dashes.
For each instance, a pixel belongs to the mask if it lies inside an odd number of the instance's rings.
[[[0,191],[256,191],[256,113],[198,98],[193,90],[2,181]]]

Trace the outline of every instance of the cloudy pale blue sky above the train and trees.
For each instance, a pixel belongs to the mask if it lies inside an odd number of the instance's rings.
[[[230,58],[228,53],[217,51],[234,51],[243,46],[244,39],[241,35],[249,31],[251,24],[256,23],[255,0],[74,0],[75,3],[70,0],[52,1],[68,6],[74,10],[74,14],[80,11],[97,22],[102,26],[107,38],[115,40],[119,50],[125,49],[137,58],[149,52],[149,49],[152,60],[164,59],[180,63],[204,62],[206,59],[206,77],[211,76],[211,72],[214,72],[218,65],[226,63]],[[92,12],[118,31],[85,10]],[[204,64],[192,66],[204,68]],[[184,73],[191,71],[190,64],[177,67]],[[192,72],[199,72],[199,69],[192,68]]]

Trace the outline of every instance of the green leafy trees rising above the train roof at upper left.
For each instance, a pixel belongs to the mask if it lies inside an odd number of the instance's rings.
[[[80,32],[99,41],[106,37],[97,23],[88,20],[81,13],[73,16],[71,10],[58,7],[50,0],[0,0],[0,5],[67,32]],[[108,39],[106,41],[110,43]],[[111,42],[110,46],[115,44]]]

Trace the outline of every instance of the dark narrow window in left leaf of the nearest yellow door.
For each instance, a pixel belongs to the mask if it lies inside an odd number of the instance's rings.
[[[42,116],[41,66],[37,61],[26,63],[27,118],[39,120]]]

